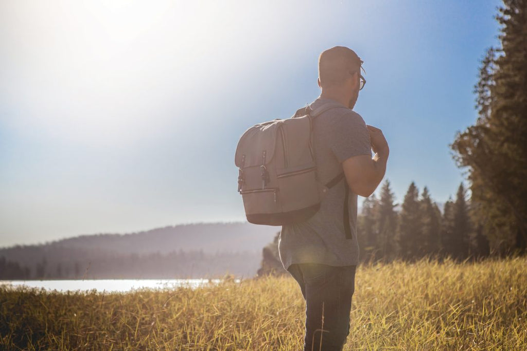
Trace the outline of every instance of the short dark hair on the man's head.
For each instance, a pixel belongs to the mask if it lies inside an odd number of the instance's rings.
[[[360,70],[363,61],[350,48],[334,46],[318,57],[318,78],[321,86],[341,85],[348,74]]]

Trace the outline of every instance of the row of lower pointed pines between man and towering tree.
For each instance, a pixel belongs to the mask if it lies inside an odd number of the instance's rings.
[[[378,198],[374,194],[364,200],[357,239],[363,262],[446,256],[464,260],[491,253],[489,240],[474,225],[463,184],[456,198],[449,199],[441,211],[428,188],[419,194],[414,182],[399,206],[389,180],[385,180]]]

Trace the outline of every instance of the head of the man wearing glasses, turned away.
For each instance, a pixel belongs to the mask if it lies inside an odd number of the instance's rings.
[[[362,75],[362,60],[352,50],[344,46],[327,49],[318,58],[318,85],[322,95],[338,95],[345,98],[348,107],[357,102]]]

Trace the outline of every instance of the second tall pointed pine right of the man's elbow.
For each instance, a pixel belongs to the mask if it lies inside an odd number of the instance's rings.
[[[401,257],[413,260],[420,256],[419,242],[421,240],[421,221],[419,220],[419,190],[412,182],[404,196],[404,202],[399,214],[399,247]]]

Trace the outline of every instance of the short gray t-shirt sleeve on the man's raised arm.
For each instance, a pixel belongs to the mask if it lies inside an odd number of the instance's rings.
[[[336,117],[330,147],[340,163],[354,156],[371,156],[372,146],[364,119],[353,111]]]

